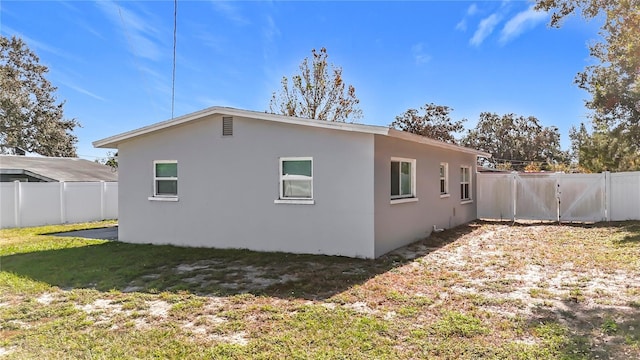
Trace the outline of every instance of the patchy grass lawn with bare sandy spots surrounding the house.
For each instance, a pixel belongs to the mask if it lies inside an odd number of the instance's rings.
[[[640,358],[640,222],[475,222],[377,260],[0,230],[0,359]]]

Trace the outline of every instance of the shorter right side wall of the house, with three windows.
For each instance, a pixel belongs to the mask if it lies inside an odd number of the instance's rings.
[[[418,201],[391,204],[391,158],[416,160]],[[449,196],[440,196],[440,163],[448,164]],[[460,167],[471,167],[471,198],[460,200]],[[435,146],[375,135],[375,256],[424,239],[437,228],[452,228],[477,218],[476,156]]]

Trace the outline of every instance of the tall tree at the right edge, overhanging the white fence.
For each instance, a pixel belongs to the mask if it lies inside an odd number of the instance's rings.
[[[591,94],[586,106],[592,113],[591,132],[584,125],[573,131],[574,156],[590,171],[639,170],[640,1],[538,0],[536,6],[552,11],[554,27],[575,13],[604,20],[602,41],[589,47],[597,63],[575,78]]]

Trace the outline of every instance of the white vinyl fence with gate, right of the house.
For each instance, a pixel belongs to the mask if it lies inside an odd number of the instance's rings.
[[[478,217],[501,220],[640,220],[640,172],[478,174]]]

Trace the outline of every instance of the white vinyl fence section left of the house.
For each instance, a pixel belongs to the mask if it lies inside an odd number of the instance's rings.
[[[117,182],[0,183],[0,228],[117,218]]]

